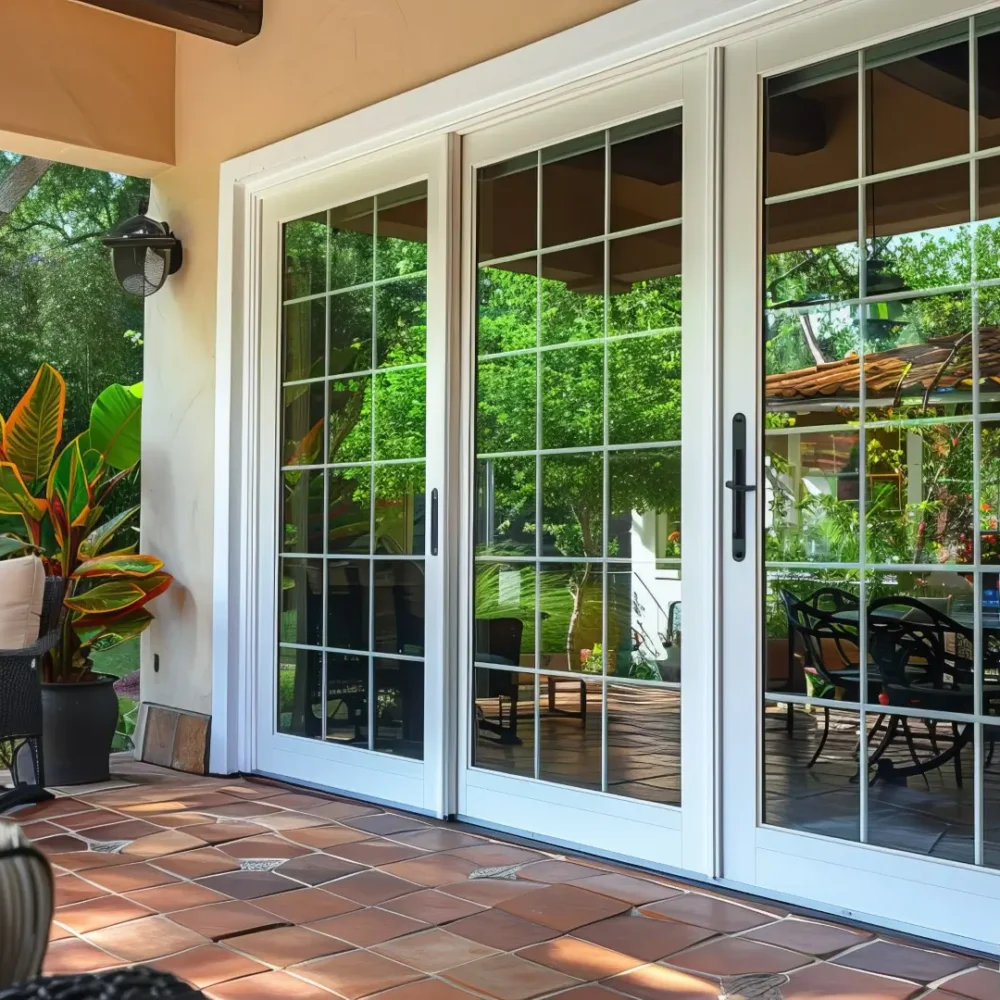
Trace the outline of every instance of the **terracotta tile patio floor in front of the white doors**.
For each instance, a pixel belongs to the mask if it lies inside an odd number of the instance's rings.
[[[1000,997],[946,949],[276,785],[119,761],[12,818],[57,876],[48,972],[147,962],[213,1000]]]

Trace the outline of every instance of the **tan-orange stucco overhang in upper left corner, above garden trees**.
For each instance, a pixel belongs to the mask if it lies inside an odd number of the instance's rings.
[[[143,174],[173,163],[173,32],[66,0],[3,0],[0,37],[3,148]]]

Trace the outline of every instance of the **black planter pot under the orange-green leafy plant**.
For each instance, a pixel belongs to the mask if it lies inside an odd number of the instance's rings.
[[[86,684],[42,685],[46,785],[89,785],[110,777],[118,727],[114,677]]]

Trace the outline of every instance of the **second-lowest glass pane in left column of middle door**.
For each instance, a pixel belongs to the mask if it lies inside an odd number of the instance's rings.
[[[530,563],[476,565],[473,658],[477,663],[534,665],[535,578]]]

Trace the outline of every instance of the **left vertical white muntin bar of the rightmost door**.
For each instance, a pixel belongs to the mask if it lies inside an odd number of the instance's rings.
[[[865,75],[865,50],[858,52],[858,294],[864,302],[868,294],[868,220],[867,192],[864,185],[868,163],[868,113]],[[860,343],[858,344],[858,561],[861,574],[858,580],[859,614],[858,621],[858,697],[861,701],[858,733],[858,827],[862,844],[868,843],[868,574],[865,569],[867,556],[867,495],[868,495],[868,448],[865,433],[867,402],[867,378],[865,377],[865,354],[868,336],[867,308],[862,305],[858,314]]]

